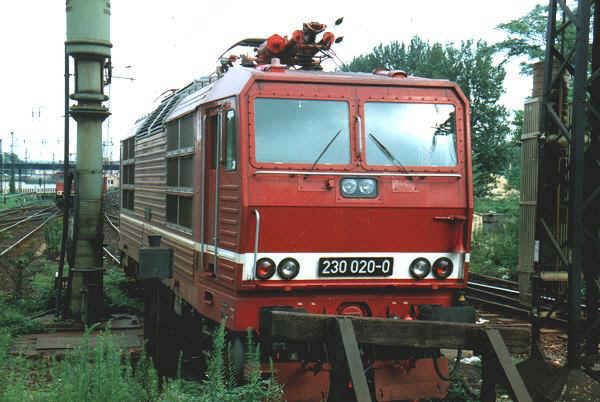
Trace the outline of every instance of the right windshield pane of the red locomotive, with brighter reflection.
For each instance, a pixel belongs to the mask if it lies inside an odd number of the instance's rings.
[[[456,166],[452,105],[367,102],[367,164]]]

